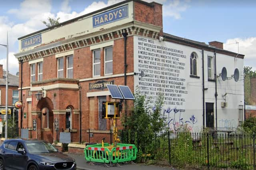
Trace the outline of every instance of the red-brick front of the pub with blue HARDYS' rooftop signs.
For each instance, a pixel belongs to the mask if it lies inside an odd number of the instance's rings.
[[[223,50],[220,42],[214,41],[209,46],[164,34],[162,26],[161,4],[126,0],[18,38],[19,53],[15,56],[19,61],[19,90],[23,102],[19,127],[32,127],[34,121],[36,128],[32,137],[51,142],[56,135],[54,122],[59,129],[74,132],[79,132],[80,128],[111,129],[110,120],[101,118],[102,101],[115,101],[106,84],[127,85],[134,91],[138,82],[136,73],[143,70],[138,69],[135,59],[138,47],[135,49],[134,42],[143,38],[151,39],[152,43],[164,40],[207,49],[212,56],[216,51],[232,60],[237,57],[242,61],[244,57]],[[187,59],[190,62],[189,55]],[[200,64],[194,72],[190,72],[187,65],[188,76],[193,74],[192,78],[198,81],[200,76],[196,74],[200,72]],[[40,93],[43,93],[42,99],[38,100],[36,94]],[[202,107],[202,101],[199,102]],[[131,105],[129,101],[128,111]],[[201,125],[202,122],[200,119]]]

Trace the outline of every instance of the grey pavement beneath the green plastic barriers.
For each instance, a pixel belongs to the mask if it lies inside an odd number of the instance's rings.
[[[77,170],[177,170],[170,166],[155,166],[155,165],[145,165],[145,164],[131,164],[131,163],[124,163],[120,166],[110,166],[106,167],[104,164],[101,163],[94,163],[91,165],[87,162],[82,154],[68,154],[72,158],[76,160],[76,167]]]

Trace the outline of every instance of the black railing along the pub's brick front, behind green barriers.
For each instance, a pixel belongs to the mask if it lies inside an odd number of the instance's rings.
[[[56,141],[59,141],[60,132],[70,132],[71,143],[113,143],[112,130],[82,129],[81,136],[79,129],[58,129],[56,130]]]

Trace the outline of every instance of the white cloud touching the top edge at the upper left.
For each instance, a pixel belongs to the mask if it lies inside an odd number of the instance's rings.
[[[15,14],[20,19],[30,19],[42,13],[50,12],[51,0],[24,0],[19,9],[11,9],[9,14]]]

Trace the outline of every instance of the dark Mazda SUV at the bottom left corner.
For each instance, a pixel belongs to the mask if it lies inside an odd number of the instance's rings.
[[[0,170],[76,170],[70,156],[39,140],[10,139],[0,147]]]

